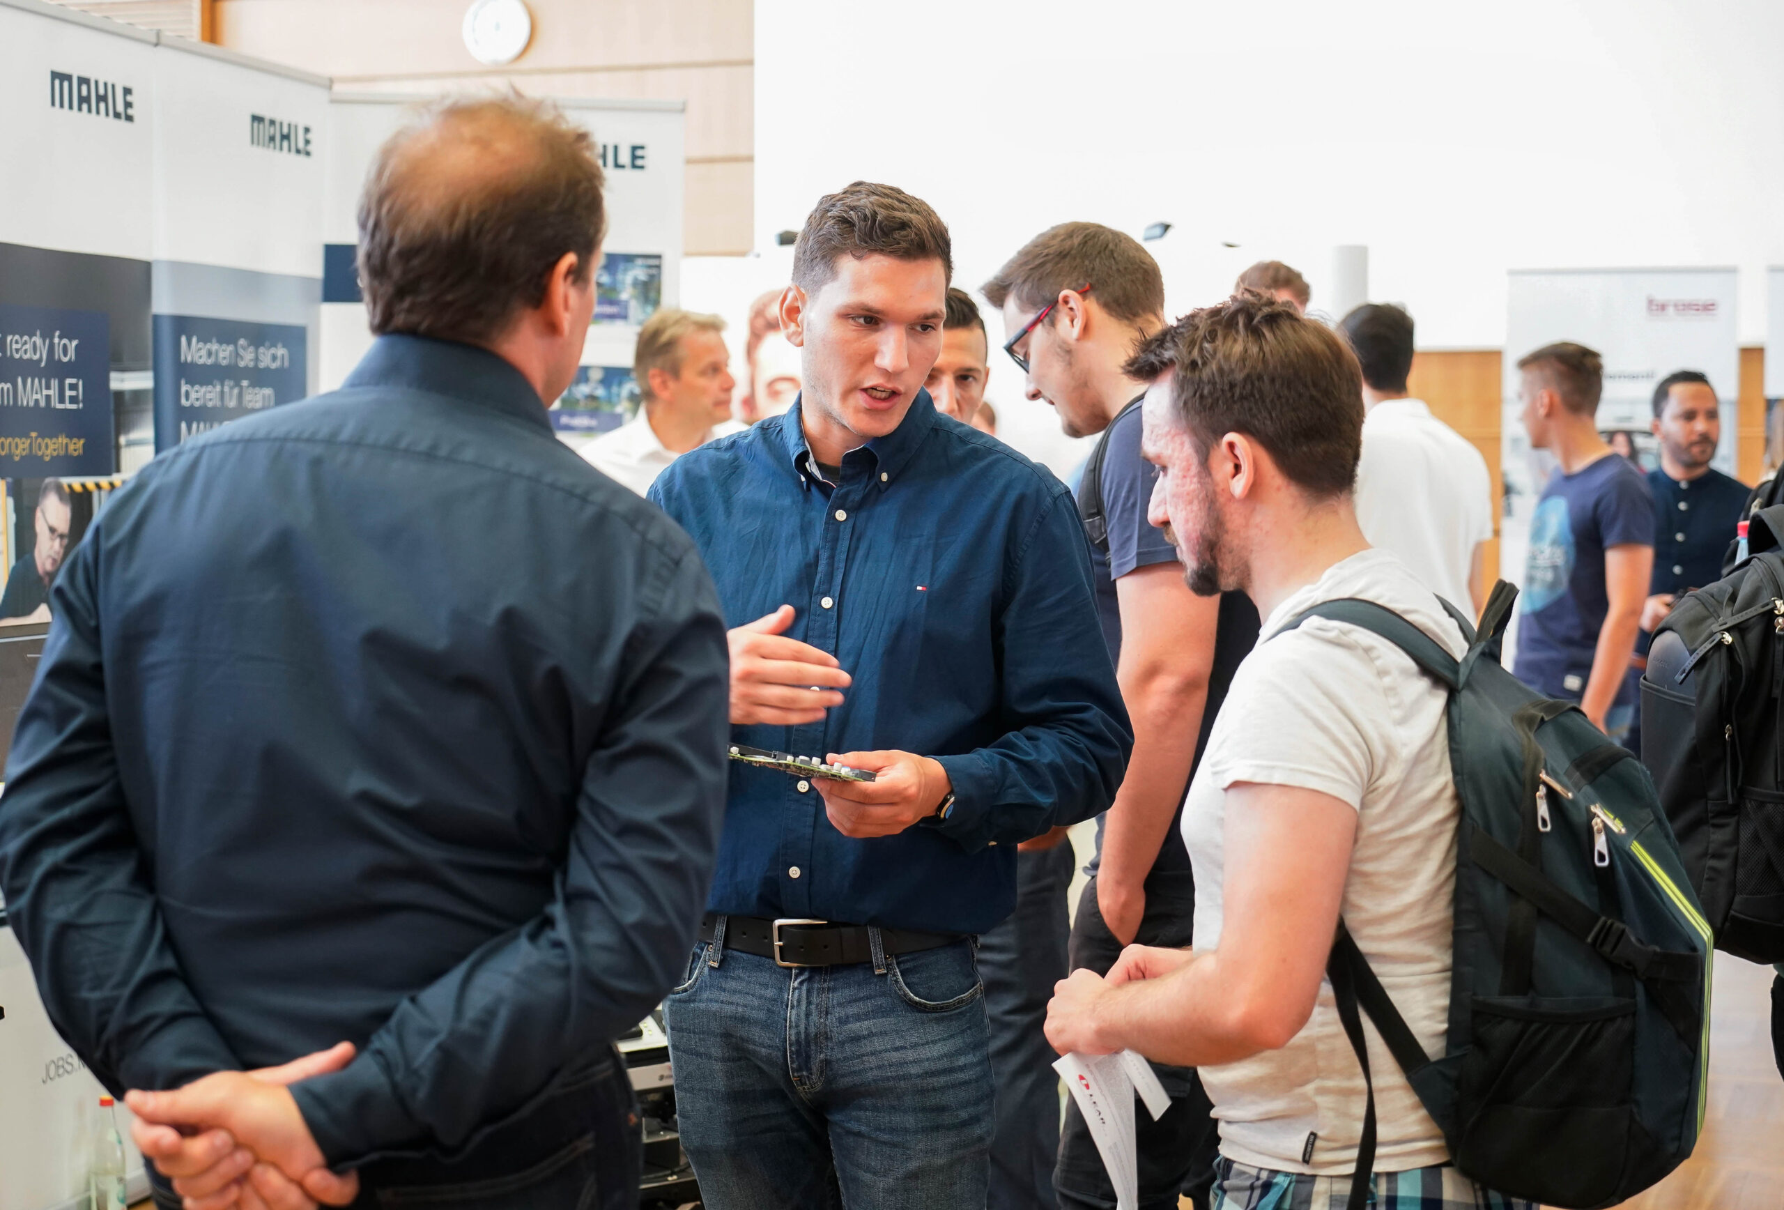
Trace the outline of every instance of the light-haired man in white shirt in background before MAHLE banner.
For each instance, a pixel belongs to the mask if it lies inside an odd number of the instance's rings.
[[[721,332],[719,316],[674,307],[646,319],[632,355],[644,403],[632,421],[583,446],[582,457],[642,496],[689,450],[740,432],[731,419],[737,380]]]

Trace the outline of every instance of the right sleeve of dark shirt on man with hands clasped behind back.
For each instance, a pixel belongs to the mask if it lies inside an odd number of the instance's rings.
[[[553,903],[403,1001],[350,1067],[293,1089],[332,1165],[475,1146],[680,976],[724,812],[730,657],[692,548],[651,587]]]

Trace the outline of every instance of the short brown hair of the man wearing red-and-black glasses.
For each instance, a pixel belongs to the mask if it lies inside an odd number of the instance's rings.
[[[1010,296],[1040,311],[1063,289],[1094,287],[1103,311],[1138,325],[1165,314],[1165,277],[1133,236],[1103,223],[1060,223],[1040,232],[979,293],[1003,307]]]

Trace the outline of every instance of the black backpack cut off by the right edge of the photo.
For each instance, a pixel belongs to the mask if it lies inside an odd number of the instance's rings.
[[[1748,550],[1682,596],[1641,678],[1641,758],[1679,835],[1716,948],[1784,962],[1784,505]]]

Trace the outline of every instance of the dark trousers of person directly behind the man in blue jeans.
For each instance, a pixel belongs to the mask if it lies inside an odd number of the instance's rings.
[[[997,1083],[988,1210],[1058,1206],[1053,1162],[1060,1151],[1060,1076],[1044,1026],[1053,985],[1069,973],[1065,892],[1074,864],[1070,841],[1017,853],[1015,912],[979,937]]]

